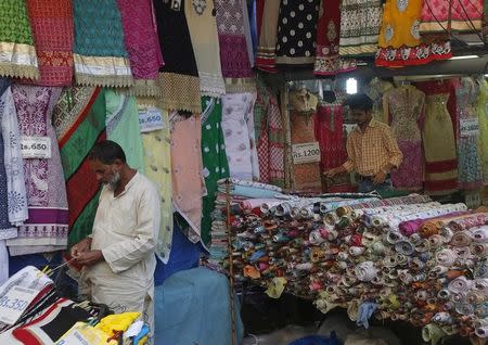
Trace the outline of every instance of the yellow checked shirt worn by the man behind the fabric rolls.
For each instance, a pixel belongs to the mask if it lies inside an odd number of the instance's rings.
[[[361,176],[374,176],[388,164],[398,167],[403,154],[398,148],[389,126],[372,119],[364,133],[359,128],[347,138],[347,171],[357,170]]]

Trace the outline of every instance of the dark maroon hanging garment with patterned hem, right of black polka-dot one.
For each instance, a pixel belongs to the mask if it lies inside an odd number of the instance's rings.
[[[339,58],[341,1],[320,1],[313,74],[335,75],[357,68],[355,60]]]

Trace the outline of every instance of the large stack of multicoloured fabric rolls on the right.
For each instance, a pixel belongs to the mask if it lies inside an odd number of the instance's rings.
[[[364,327],[371,317],[406,320],[433,344],[455,333],[488,337],[488,213],[416,194],[266,193],[230,193],[237,280],[270,297],[312,299],[323,312],[347,308]],[[215,214],[224,223],[224,193]]]

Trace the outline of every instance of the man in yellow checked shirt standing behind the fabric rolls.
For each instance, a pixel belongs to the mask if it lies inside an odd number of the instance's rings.
[[[333,178],[336,175],[357,171],[359,192],[391,189],[390,171],[398,168],[403,155],[388,125],[373,119],[373,101],[359,93],[347,99],[352,117],[358,125],[347,138],[346,163],[325,171]]]

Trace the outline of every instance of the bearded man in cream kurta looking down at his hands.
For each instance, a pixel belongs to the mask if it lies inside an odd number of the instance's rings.
[[[70,250],[84,266],[81,293],[117,314],[140,311],[154,330],[157,189],[127,165],[123,149],[113,141],[97,143],[89,164],[103,188],[92,234]]]

